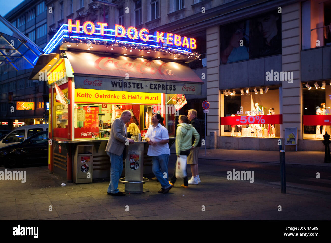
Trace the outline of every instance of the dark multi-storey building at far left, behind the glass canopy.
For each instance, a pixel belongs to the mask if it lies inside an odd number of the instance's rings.
[[[41,49],[47,44],[46,5],[40,0],[25,0],[4,16]],[[32,69],[15,70],[10,65],[0,68],[1,129],[40,124],[48,120],[46,102],[48,87],[44,81],[29,80]],[[33,110],[19,110],[16,103],[34,102]]]

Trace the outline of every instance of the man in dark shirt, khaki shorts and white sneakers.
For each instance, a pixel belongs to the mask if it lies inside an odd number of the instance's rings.
[[[197,118],[196,110],[189,110],[187,114],[187,118],[191,121],[192,126],[197,130],[200,135],[199,143],[196,147],[191,149],[190,154],[187,156],[187,164],[191,165],[192,178],[188,181],[189,184],[198,184],[200,181],[199,171],[198,171],[198,157],[199,157],[199,149],[201,147],[201,126]],[[194,143],[194,138],[192,138],[192,144]]]

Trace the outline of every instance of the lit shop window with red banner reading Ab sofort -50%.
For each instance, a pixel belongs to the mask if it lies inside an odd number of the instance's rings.
[[[279,138],[278,87],[222,91],[221,136]]]

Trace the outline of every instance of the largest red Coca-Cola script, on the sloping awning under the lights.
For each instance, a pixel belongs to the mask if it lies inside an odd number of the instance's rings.
[[[173,70],[167,68],[167,63],[156,63],[154,61],[121,61],[114,58],[101,57],[94,62],[94,67],[99,70],[122,70],[125,72],[150,73],[172,76]]]

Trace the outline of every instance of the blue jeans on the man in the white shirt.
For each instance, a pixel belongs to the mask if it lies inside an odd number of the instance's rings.
[[[152,171],[161,183],[162,188],[168,188],[170,186],[168,182],[168,160],[169,154],[152,156]]]

